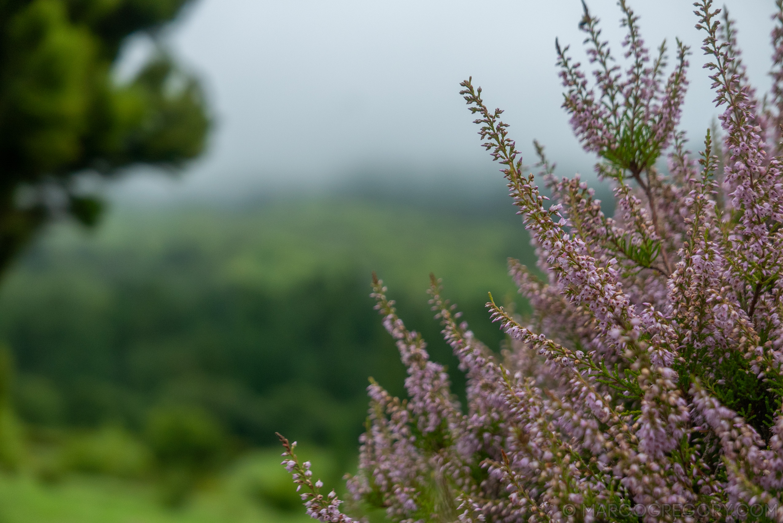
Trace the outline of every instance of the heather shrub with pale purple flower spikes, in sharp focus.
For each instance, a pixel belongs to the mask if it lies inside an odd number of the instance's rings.
[[[557,45],[563,107],[613,184],[614,217],[579,176],[555,177],[536,143],[548,205],[522,172],[502,111],[463,82],[545,278],[510,260],[534,313],[523,320],[490,296],[507,333],[500,353],[475,339],[432,278],[435,317],[467,374],[467,410],[373,278],[408,398],[371,382],[347,513],[364,503],[405,523],[783,521],[783,0],[774,87],[761,100],[731,18],[711,0],[695,7],[723,109],[720,137],[707,131],[697,156],[677,127],[687,46],[677,41],[667,76],[666,44],[650,54],[624,0],[625,69],[586,6],[579,25],[594,81]],[[354,521],[281,440],[308,513]]]

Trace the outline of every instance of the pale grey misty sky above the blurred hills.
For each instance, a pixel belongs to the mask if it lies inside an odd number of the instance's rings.
[[[614,0],[593,0],[620,56]],[[650,48],[680,37],[691,56],[683,127],[700,142],[716,115],[687,0],[630,0]],[[760,88],[770,58],[772,0],[727,2]],[[561,105],[554,39],[583,57],[579,0],[197,0],[168,32],[204,81],[215,114],[207,154],[179,181],[132,177],[124,195],[213,197],[308,188],[356,170],[460,170],[486,176],[489,154],[458,95],[472,75],[485,101],[506,109],[528,163],[547,145],[561,174],[590,171]],[[148,52],[127,46],[124,70]],[[673,52],[671,53],[673,55]],[[585,60],[586,61],[586,60]],[[695,147],[698,145],[695,143]]]

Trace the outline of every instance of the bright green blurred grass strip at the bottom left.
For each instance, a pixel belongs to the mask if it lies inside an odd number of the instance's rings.
[[[243,457],[182,509],[161,506],[151,485],[77,475],[49,484],[29,475],[0,475],[2,523],[304,523],[276,450]],[[332,464],[315,453],[322,469]]]

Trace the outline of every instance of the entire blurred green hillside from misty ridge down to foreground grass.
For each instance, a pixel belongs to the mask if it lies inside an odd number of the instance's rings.
[[[16,475],[0,475],[0,523],[223,521],[215,510],[236,493],[240,469],[262,479],[256,493],[239,489],[251,515],[236,521],[295,518],[274,432],[328,449],[324,480],[337,486],[354,466],[367,378],[405,394],[369,297],[372,270],[450,371],[456,361],[427,303],[430,272],[499,346],[486,292],[514,300],[507,257],[533,263],[501,201],[507,213],[482,216],[322,196],[115,210],[94,231],[49,227],[0,288],[23,434]],[[254,462],[258,448],[274,463]],[[90,496],[103,515],[80,512]],[[170,520],[166,505],[186,509]]]

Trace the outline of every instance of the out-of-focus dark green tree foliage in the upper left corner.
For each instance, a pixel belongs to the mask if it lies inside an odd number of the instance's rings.
[[[78,176],[178,167],[204,148],[197,81],[162,52],[118,84],[121,43],[172,20],[186,0],[0,2],[0,270],[50,217],[101,210]]]

